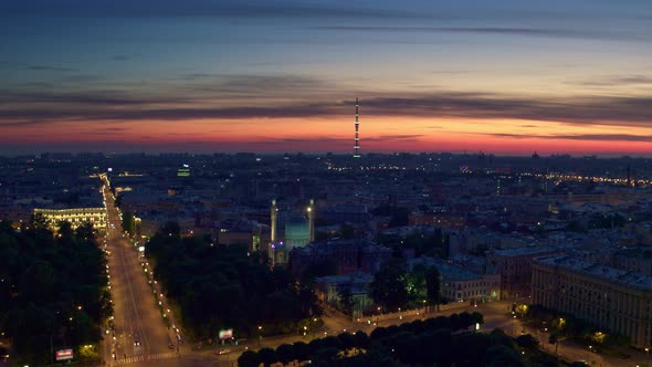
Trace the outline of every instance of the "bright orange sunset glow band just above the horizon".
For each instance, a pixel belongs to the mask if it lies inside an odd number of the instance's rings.
[[[111,126],[107,128],[107,126]],[[104,129],[103,129],[104,128]],[[4,135],[24,144],[112,143],[148,150],[353,153],[353,116],[332,118],[61,122],[39,135],[13,126]],[[75,132],[70,134],[67,132]],[[360,116],[361,153],[484,151],[497,155],[652,154],[652,128],[481,118]],[[613,137],[613,138],[610,138]],[[212,149],[212,150],[211,150]],[[157,148],[157,150],[161,150]],[[165,149],[164,149],[165,150]],[[162,150],[161,150],[162,151]]]

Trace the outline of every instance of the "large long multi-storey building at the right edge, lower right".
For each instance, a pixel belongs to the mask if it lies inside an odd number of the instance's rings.
[[[651,346],[652,276],[570,255],[541,258],[533,264],[532,302]]]

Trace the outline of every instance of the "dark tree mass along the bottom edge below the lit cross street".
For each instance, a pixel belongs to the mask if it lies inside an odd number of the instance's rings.
[[[514,340],[503,332],[466,332],[475,322],[482,323],[482,315],[463,313],[378,327],[370,335],[343,333],[307,344],[248,350],[238,364],[257,367],[311,360],[315,366],[524,366]]]

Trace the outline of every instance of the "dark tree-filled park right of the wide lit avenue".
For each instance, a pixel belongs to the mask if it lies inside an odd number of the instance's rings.
[[[155,276],[181,307],[185,326],[198,338],[222,328],[236,335],[291,333],[320,314],[313,291],[286,270],[271,270],[266,256],[245,245],[212,245],[208,239],[181,238],[167,223],[151,238],[146,254]]]

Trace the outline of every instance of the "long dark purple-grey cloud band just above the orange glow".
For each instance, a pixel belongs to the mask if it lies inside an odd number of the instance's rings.
[[[145,86],[88,92],[0,90],[4,120],[185,120],[302,118],[349,115],[360,95],[365,116],[522,119],[577,125],[649,127],[652,96],[512,96],[498,93],[350,91],[302,75],[188,74],[178,86]],[[632,78],[632,77],[629,77]],[[637,76],[637,80],[643,78]],[[524,127],[535,125],[524,123]],[[403,137],[408,138],[408,137]]]

